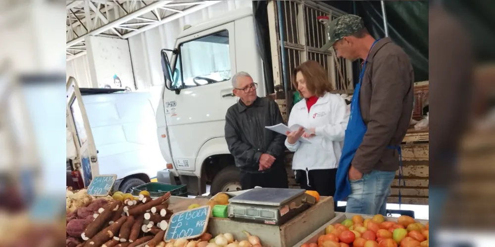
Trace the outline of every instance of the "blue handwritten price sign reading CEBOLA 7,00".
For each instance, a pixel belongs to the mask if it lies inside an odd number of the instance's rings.
[[[174,213],[168,223],[165,241],[198,238],[206,231],[210,213],[210,206],[200,206]]]

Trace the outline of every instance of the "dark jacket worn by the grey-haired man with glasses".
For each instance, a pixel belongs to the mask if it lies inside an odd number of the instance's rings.
[[[231,106],[225,116],[225,140],[236,166],[250,173],[283,166],[286,136],[265,128],[283,123],[277,103],[268,98],[258,97],[250,106],[239,100]],[[258,171],[259,158],[265,153],[276,161],[269,169]]]

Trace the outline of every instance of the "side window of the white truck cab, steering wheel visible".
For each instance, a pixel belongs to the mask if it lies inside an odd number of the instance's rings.
[[[171,89],[189,88],[230,79],[229,31],[180,45]],[[182,72],[182,78],[181,73]],[[184,79],[184,83],[182,82]]]

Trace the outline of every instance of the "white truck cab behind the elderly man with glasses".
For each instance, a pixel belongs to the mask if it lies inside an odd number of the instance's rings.
[[[158,181],[188,185],[190,194],[240,190],[239,170],[224,137],[225,114],[237,103],[231,77],[249,73],[266,96],[251,8],[189,27],[172,51],[162,50],[166,78],[156,114],[160,149],[169,163]]]

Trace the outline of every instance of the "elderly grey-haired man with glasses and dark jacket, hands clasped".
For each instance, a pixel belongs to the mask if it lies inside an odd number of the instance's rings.
[[[277,103],[258,97],[257,84],[246,72],[234,75],[232,86],[240,100],[227,110],[225,139],[241,170],[242,189],[288,188],[284,167],[286,137],[265,128],[284,122]]]

